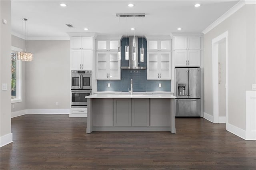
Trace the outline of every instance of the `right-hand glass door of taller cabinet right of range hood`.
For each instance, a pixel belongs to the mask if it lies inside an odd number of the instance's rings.
[[[159,78],[161,80],[171,79],[171,53],[161,52],[159,53]]]

